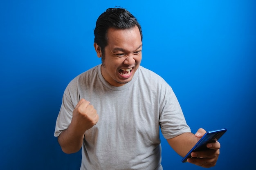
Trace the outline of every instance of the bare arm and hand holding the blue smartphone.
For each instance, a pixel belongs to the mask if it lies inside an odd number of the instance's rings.
[[[195,135],[187,132],[172,139],[167,139],[167,141],[175,152],[184,157],[205,133],[206,131],[200,128]],[[215,166],[220,155],[220,143],[218,141],[209,143],[207,148],[210,148],[210,150],[192,152],[191,156],[193,158],[189,158],[187,161],[205,168]]]

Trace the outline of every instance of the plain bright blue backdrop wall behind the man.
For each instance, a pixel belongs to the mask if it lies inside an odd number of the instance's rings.
[[[192,132],[227,128],[212,170],[255,165],[256,2],[254,0],[2,0],[0,2],[0,169],[78,170],[53,136],[63,91],[100,64],[98,16],[119,5],[141,23],[141,65],[173,87]],[[162,139],[162,165],[181,163]]]

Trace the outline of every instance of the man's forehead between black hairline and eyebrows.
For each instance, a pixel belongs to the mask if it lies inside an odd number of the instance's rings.
[[[141,35],[137,26],[131,29],[108,29],[108,45],[110,49],[126,49],[132,51],[141,46]]]

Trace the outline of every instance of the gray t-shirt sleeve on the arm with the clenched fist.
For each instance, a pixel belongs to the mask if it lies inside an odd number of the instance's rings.
[[[63,94],[61,109],[56,120],[54,132],[55,137],[58,137],[61,134],[61,132],[67,129],[70,125],[74,108],[75,106],[72,103],[72,100],[70,99],[68,88],[66,88]]]

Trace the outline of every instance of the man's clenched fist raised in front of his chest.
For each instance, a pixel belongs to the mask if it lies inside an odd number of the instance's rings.
[[[99,121],[99,115],[90,102],[81,99],[73,111],[72,123],[75,124],[76,130],[84,133],[92,128]]]

